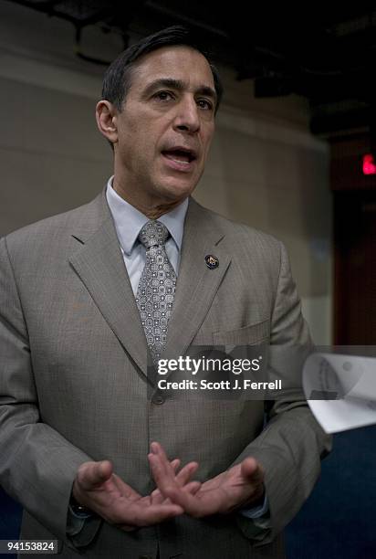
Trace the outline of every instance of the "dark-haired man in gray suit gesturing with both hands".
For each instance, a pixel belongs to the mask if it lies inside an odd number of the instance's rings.
[[[148,353],[309,346],[283,246],[190,197],[221,93],[182,28],[129,48],[107,188],[1,239],[0,481],[66,557],[283,557],[329,450],[296,391],[266,427],[262,400],[148,397]]]

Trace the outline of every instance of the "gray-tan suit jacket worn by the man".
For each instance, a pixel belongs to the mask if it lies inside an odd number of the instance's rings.
[[[308,344],[287,255],[273,237],[190,201],[167,353],[191,344]],[[214,254],[217,269],[204,257]],[[151,491],[149,444],[200,463],[205,480],[254,456],[273,529],[254,546],[239,514],[124,533],[94,522],[79,554],[162,559],[284,556],[281,533],[319,475],[327,438],[301,395],[262,401],[147,398],[147,345],[104,194],[0,241],[0,482],[25,508],[22,537],[66,537],[78,466],[110,459]],[[277,538],[275,536],[277,535]]]

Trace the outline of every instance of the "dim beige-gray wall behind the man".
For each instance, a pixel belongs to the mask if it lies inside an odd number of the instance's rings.
[[[96,195],[111,174],[96,130],[103,69],[73,55],[73,27],[0,5],[0,235]],[[113,58],[117,37],[87,34],[90,54]],[[223,69],[224,105],[196,198],[258,227],[288,248],[317,343],[330,343],[329,150],[308,132],[305,100],[255,100]]]

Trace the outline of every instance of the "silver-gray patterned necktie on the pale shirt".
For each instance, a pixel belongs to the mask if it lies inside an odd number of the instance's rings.
[[[146,341],[156,363],[166,345],[168,322],[175,295],[176,274],[167,257],[170,233],[160,221],[148,221],[139,239],[146,248],[146,263],[136,294]]]

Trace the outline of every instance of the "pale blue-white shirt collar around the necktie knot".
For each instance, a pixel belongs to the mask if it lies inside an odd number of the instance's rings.
[[[134,206],[131,206],[124,198],[121,198],[112,188],[112,179],[110,177],[107,183],[106,198],[110,207],[110,212],[115,222],[116,232],[120,241],[120,246],[127,256],[131,255],[134,244],[139,237],[141,228],[149,221],[149,217],[144,216]],[[183,200],[182,204],[176,206],[171,212],[163,214],[158,218],[172,236],[176,247],[180,251],[183,241],[184,219],[188,209],[188,198]]]

